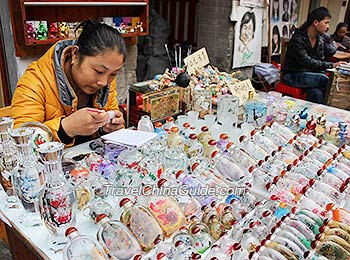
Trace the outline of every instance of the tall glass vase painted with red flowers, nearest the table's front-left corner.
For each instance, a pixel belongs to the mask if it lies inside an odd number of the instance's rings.
[[[39,146],[38,152],[45,167],[46,184],[39,194],[39,209],[42,220],[49,230],[48,245],[57,251],[67,242],[64,232],[76,222],[77,202],[73,186],[67,182],[62,170],[64,145],[47,142]]]

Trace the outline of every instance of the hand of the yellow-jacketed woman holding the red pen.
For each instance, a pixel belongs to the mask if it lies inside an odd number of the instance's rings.
[[[61,125],[66,134],[70,137],[76,135],[88,136],[98,131],[109,121],[109,116],[104,111],[91,108],[82,108],[73,114],[63,118]]]

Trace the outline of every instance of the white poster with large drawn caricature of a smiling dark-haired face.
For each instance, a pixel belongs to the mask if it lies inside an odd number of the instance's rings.
[[[261,57],[263,9],[239,6],[237,14],[232,68],[254,66]]]

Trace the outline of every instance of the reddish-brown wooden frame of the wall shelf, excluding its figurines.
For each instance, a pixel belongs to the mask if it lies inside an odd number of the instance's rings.
[[[148,35],[148,0],[9,0],[17,56],[43,54],[52,44],[62,38],[29,40],[26,21],[79,22],[102,17],[140,17],[144,31],[125,33],[127,44],[135,44],[138,36]]]

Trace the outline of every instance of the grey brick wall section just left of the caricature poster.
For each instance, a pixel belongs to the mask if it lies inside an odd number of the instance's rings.
[[[198,47],[206,47],[210,63],[230,71],[234,24],[230,21],[232,0],[200,0]]]

